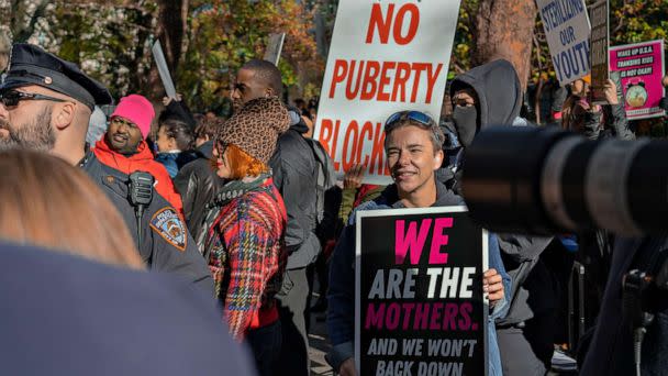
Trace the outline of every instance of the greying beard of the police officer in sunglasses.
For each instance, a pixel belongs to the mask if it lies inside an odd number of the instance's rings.
[[[9,131],[7,139],[0,137],[0,151],[25,148],[38,152],[49,152],[56,144],[56,132],[51,125],[51,106],[45,107],[32,122],[18,129],[7,121],[0,120],[0,129]]]

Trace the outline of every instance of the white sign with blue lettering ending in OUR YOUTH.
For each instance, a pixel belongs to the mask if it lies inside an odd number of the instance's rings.
[[[587,76],[589,16],[583,0],[536,0],[552,63],[561,86]]]

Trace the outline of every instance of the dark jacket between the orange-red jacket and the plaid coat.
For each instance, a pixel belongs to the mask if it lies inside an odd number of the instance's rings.
[[[198,158],[185,165],[174,178],[174,185],[183,201],[183,215],[192,237],[199,239],[205,207],[223,186],[223,180],[211,167],[213,141],[196,151]]]

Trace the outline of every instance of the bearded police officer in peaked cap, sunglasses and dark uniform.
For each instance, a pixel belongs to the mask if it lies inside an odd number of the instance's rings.
[[[15,44],[0,85],[0,150],[40,150],[84,168],[121,212],[135,241],[142,240],[140,253],[152,269],[181,275],[213,294],[207,264],[174,207],[154,190],[137,229],[129,176],[102,165],[87,150],[94,104],[111,102],[107,88],[75,64],[37,46]]]

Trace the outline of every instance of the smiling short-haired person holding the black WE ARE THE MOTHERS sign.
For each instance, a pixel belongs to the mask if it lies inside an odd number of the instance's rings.
[[[448,190],[435,178],[435,170],[443,162],[444,134],[425,113],[401,111],[392,114],[385,124],[385,152],[387,166],[394,184],[388,186],[377,199],[361,204],[357,210],[428,208],[461,204],[459,196]],[[355,215],[334,250],[327,295],[327,332],[332,351],[327,361],[341,375],[357,375],[354,364],[355,333]],[[490,314],[488,342],[490,375],[501,374],[501,361],[497,346],[493,320],[504,313],[506,306],[504,280],[510,281],[501,262],[496,236],[489,244],[490,269],[485,272],[483,291],[489,295]]]

